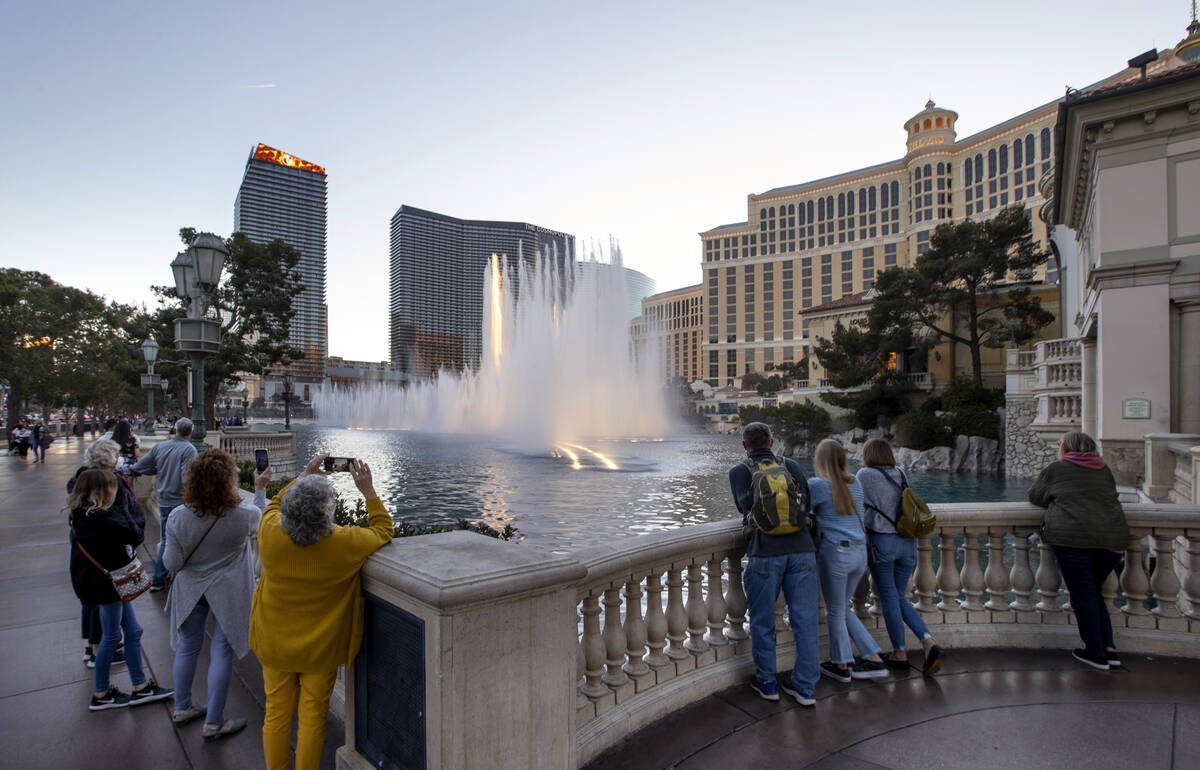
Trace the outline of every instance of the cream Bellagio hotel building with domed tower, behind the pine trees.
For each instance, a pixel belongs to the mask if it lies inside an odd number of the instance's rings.
[[[902,158],[750,194],[746,221],[701,233],[702,378],[732,385],[808,351],[802,313],[865,291],[877,270],[911,266],[943,222],[1031,211],[1054,168],[1057,102],[959,139],[954,110],[932,101],[904,124]],[[1050,281],[1055,276],[1039,276]]]

